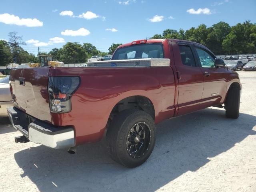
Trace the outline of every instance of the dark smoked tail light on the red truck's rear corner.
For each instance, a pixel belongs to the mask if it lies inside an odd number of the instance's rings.
[[[49,77],[48,93],[50,111],[67,113],[71,111],[71,96],[77,90],[80,78],[77,76]]]

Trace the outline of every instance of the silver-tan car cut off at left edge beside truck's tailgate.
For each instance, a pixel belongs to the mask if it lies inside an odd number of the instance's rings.
[[[0,116],[8,116],[6,107],[13,106],[9,76],[0,79]]]

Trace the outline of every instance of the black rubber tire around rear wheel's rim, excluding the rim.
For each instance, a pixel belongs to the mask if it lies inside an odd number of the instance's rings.
[[[145,149],[142,148],[143,151],[145,150],[143,154],[135,158],[129,154],[127,139],[134,125],[140,122],[145,123],[145,130],[147,129],[147,132],[150,133],[150,138],[146,139],[147,144],[146,142],[144,146],[142,144],[143,148],[145,147]],[[128,168],[140,166],[148,159],[154,149],[156,142],[155,129],[152,116],[142,110],[128,109],[120,112],[114,117],[106,133],[106,144],[111,158]]]

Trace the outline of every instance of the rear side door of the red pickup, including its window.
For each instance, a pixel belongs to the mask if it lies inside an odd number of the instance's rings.
[[[192,44],[172,41],[174,62],[179,83],[178,116],[199,110],[204,77],[195,60]]]

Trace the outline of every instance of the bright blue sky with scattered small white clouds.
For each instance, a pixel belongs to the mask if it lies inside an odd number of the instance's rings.
[[[235,25],[256,22],[256,0],[8,0],[1,1],[0,39],[16,31],[37,54],[65,42],[90,42],[108,51],[126,43],[161,34],[167,28],[187,30],[220,21]]]

